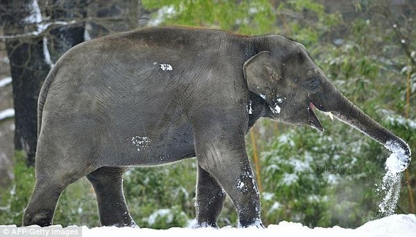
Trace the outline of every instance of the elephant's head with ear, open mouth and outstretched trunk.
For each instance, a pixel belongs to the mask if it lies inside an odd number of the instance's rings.
[[[252,56],[243,66],[249,90],[263,98],[270,109],[268,117],[289,124],[307,124],[322,132],[322,125],[314,113],[318,108],[392,151],[398,161],[393,162],[392,171],[399,172],[408,167],[408,144],[344,97],[316,66],[302,44],[284,38],[273,48],[276,49]]]

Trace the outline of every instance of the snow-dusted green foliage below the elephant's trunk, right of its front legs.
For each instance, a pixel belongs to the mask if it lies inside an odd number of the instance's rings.
[[[295,127],[266,142],[262,210],[268,223],[357,227],[376,214],[374,184],[385,152],[345,124],[320,120],[324,134]]]

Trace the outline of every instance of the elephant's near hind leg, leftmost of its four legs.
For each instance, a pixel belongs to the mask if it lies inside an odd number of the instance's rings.
[[[64,144],[67,149],[64,149]],[[26,207],[23,225],[52,225],[58,199],[69,184],[93,171],[91,160],[83,147],[60,142],[52,136],[38,139],[36,151],[36,182]],[[68,148],[69,147],[69,148]]]

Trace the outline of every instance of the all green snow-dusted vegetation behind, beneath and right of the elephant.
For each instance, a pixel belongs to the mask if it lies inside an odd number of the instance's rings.
[[[415,3],[342,2],[142,0],[141,8],[150,14],[149,25],[278,33],[300,41],[344,95],[415,150]],[[287,220],[310,227],[358,227],[379,218],[382,197],[376,189],[388,151],[341,122],[322,115],[320,120],[323,134],[270,120],[250,131],[248,153],[259,157],[253,169],[259,170],[266,225]],[[415,168],[413,161],[402,179],[397,213],[415,214]],[[24,153],[16,153],[13,171],[15,178],[1,191],[1,225],[20,225],[34,182]],[[189,226],[195,185],[194,159],[130,169],[124,176],[128,206],[140,227]],[[99,225],[94,191],[86,180],[64,192],[55,223]],[[236,212],[227,199],[219,225],[235,224]]]

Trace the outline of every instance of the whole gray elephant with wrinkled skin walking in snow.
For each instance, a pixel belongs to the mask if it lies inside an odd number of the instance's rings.
[[[36,184],[23,223],[51,225],[60,193],[87,176],[101,224],[135,226],[125,167],[196,156],[197,227],[216,227],[225,193],[240,227],[263,227],[245,134],[259,117],[323,131],[314,108],[396,144],[401,170],[408,166],[408,145],[343,97],[302,44],[280,35],[164,27],[87,41],[44,82]]]

